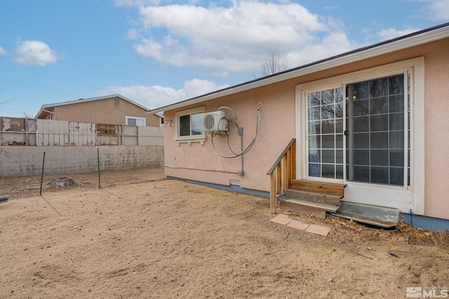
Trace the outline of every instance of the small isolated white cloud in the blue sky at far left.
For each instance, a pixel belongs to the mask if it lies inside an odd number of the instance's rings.
[[[18,64],[45,67],[47,64],[55,63],[63,58],[43,41],[20,41],[15,50],[18,54],[15,57],[15,62]]]

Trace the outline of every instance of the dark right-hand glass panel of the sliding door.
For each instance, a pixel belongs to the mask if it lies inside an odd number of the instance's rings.
[[[404,184],[404,75],[347,85],[347,180]]]

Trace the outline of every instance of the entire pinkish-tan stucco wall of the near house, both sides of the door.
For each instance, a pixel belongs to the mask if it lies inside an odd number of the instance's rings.
[[[322,78],[330,78],[352,71],[382,66],[414,57],[424,57],[425,64],[425,207],[426,216],[448,218],[449,211],[449,134],[445,129],[449,113],[449,39],[423,46],[401,50],[396,53],[335,67],[326,71],[293,78],[281,83],[255,88],[235,95],[213,99],[202,103],[205,111],[215,111],[220,106],[229,106],[236,111],[239,126],[244,128],[244,146],[252,139],[257,120],[257,103],[263,104],[262,128],[253,148],[244,156],[245,176],[217,171],[237,172],[241,169],[241,159],[220,158],[210,145],[210,135],[205,144],[176,145],[175,125],[166,127],[165,158],[166,174],[185,179],[228,185],[229,179],[239,179],[243,188],[269,191],[267,170],[278,158],[283,148],[295,137],[295,85]],[[177,111],[194,108],[189,106]],[[165,111],[166,119],[175,120],[176,111]],[[239,136],[232,128],[230,139],[233,148],[239,149]],[[214,143],[225,154],[225,137],[215,137]],[[301,146],[301,141],[297,141]],[[196,169],[177,169],[185,167]]]

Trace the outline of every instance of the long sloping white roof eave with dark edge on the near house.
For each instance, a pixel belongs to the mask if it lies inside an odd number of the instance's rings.
[[[428,29],[424,29],[418,32],[413,32],[412,34],[400,36],[396,39],[382,41],[380,43],[375,43],[371,46],[358,48],[356,50],[351,50],[349,52],[342,53],[340,55],[335,55],[333,57],[328,57],[323,60],[318,60],[316,62],[304,64],[294,69],[289,69],[287,71],[281,71],[279,73],[270,76],[257,78],[253,81],[248,81],[245,83],[231,86],[229,88],[216,90],[214,92],[207,93],[206,95],[200,95],[199,97],[193,97],[191,99],[186,99],[181,102],[177,102],[167,106],[162,106],[157,109],[152,109],[147,113],[159,113],[161,111],[168,111],[172,109],[182,108],[184,106],[188,106],[191,104],[206,102],[210,99],[216,99],[217,97],[232,95],[237,92],[258,88],[264,85],[269,85],[280,81],[285,81],[290,78],[304,76],[307,74],[314,73],[316,71],[323,71],[333,67],[340,67],[344,64],[348,64],[351,62],[366,60],[368,58],[392,53],[398,50],[403,50],[414,46],[420,46],[424,43],[438,41],[440,39],[445,39],[447,37],[449,37],[449,22],[435,27],[430,27]]]

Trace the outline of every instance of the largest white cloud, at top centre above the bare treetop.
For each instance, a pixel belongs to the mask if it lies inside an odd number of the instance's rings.
[[[299,4],[140,5],[139,11],[140,27],[128,34],[136,39],[137,53],[177,67],[203,67],[218,76],[253,72],[272,49],[295,66],[354,48],[340,22],[323,20]],[[335,34],[340,39],[333,39]],[[315,52],[307,54],[306,48]]]

